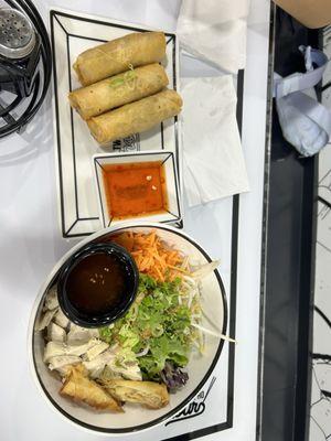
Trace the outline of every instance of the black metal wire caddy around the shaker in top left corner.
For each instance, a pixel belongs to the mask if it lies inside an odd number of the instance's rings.
[[[7,3],[28,15],[36,31],[36,42],[24,60],[0,57],[0,90],[13,95],[10,103],[0,100],[0,138],[21,130],[34,117],[46,96],[52,73],[50,40],[38,10],[30,0],[7,0]],[[26,104],[22,106],[24,100]]]

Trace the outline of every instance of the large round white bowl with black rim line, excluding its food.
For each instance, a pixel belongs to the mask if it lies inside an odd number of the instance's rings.
[[[124,408],[125,413],[115,415],[110,412],[97,412],[92,408],[75,404],[58,394],[61,381],[44,364],[44,340],[42,333],[35,331],[35,323],[41,315],[45,293],[53,280],[56,278],[62,265],[73,252],[90,241],[107,240],[111,234],[126,229],[141,233],[149,233],[151,229],[156,229],[158,235],[167,244],[174,246],[174,248],[190,256],[190,260],[194,263],[206,263],[212,260],[194,239],[181,230],[170,226],[136,222],[124,223],[116,227],[103,229],[82,240],[55,265],[36,297],[29,325],[28,349],[30,366],[36,386],[43,397],[52,408],[61,413],[66,420],[72,421],[79,428],[87,429],[94,433],[104,433],[108,437],[125,435],[147,430],[164,422],[167,419],[178,413],[191,399],[195,397],[211,376],[220,358],[224,343],[224,341],[218,337],[205,335],[204,354],[192,354],[189,365],[186,366],[189,373],[186,385],[177,394],[171,394],[170,404],[162,409],[151,410],[126,404]],[[205,323],[202,321],[202,325],[210,327],[210,322],[212,322],[217,325],[217,330],[222,334],[225,334],[227,306],[223,282],[217,270],[211,272],[202,280],[202,308],[205,315],[209,318],[209,321],[206,320]]]

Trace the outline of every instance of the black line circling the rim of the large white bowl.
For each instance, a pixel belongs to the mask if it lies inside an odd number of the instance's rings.
[[[161,226],[161,225],[160,226],[158,225],[157,227],[156,226],[151,227],[151,225],[148,225],[148,224],[147,225],[139,224],[139,225],[137,225],[137,227],[156,228],[156,229],[164,229],[167,232],[172,232],[173,234],[177,234],[178,236],[181,236],[182,238],[184,238],[185,240],[191,243],[194,247],[196,247],[199,249],[199,251],[205,257],[205,259],[209,262],[212,261],[212,259],[207,255],[207,252],[199,244],[196,244],[194,239],[192,239],[191,237],[186,236],[185,234],[183,234],[180,230],[169,229],[166,226]],[[96,237],[94,239],[94,241],[95,240],[99,240],[103,237],[108,236],[109,234],[116,234],[116,233],[118,233],[118,232],[120,232],[122,229],[128,229],[128,228],[135,228],[135,226],[124,226],[124,227],[115,229],[113,232],[107,232],[104,235],[100,235],[100,236]],[[221,295],[222,295],[223,305],[224,305],[224,322],[223,322],[222,334],[225,335],[226,334],[226,329],[227,329],[227,315],[228,315],[228,312],[227,312],[227,310],[228,310],[227,300],[226,300],[226,294],[225,294],[225,288],[224,288],[224,284],[223,284],[223,281],[222,281],[222,278],[221,278],[221,275],[220,275],[218,270],[215,269],[214,273],[216,276],[216,279],[217,279],[217,282],[218,282],[218,286],[220,286],[220,289],[221,289]],[[49,287],[52,286],[52,283],[54,282],[55,278],[56,278],[56,275],[54,276],[54,278],[49,283]],[[44,297],[42,297],[41,302],[42,302],[43,299],[44,299]],[[38,316],[38,313],[35,314],[33,329],[35,327],[36,316]],[[42,381],[42,379],[41,379],[41,377],[39,375],[38,368],[36,368],[36,361],[35,361],[34,351],[33,351],[33,347],[34,347],[34,333],[32,335],[32,358],[33,358],[34,372],[35,372],[35,375],[36,375],[36,378],[39,380],[40,386],[42,387],[42,389],[43,389],[45,396],[49,398],[50,402],[55,407],[55,409],[60,413],[62,413],[63,417],[67,418],[70,421],[72,421],[73,423],[77,424],[78,427],[87,429],[87,430],[93,431],[93,432],[109,433],[109,434],[110,433],[125,434],[125,433],[137,433],[139,431],[142,431],[142,430],[146,430],[146,429],[150,429],[150,428],[152,428],[152,427],[154,427],[154,426],[157,426],[157,424],[159,424],[159,423],[161,423],[163,421],[169,420],[171,417],[177,415],[181,409],[183,409],[196,396],[199,390],[202,389],[202,387],[204,386],[206,380],[212,375],[212,372],[214,370],[214,368],[215,368],[215,366],[216,366],[216,364],[218,362],[218,358],[221,356],[223,346],[224,346],[224,340],[222,338],[220,341],[220,344],[218,344],[216,354],[215,354],[215,356],[213,358],[213,362],[212,362],[210,368],[207,369],[207,372],[205,373],[204,377],[202,378],[200,384],[195,387],[195,389],[180,405],[178,405],[174,409],[170,410],[169,412],[164,413],[162,417],[159,417],[159,418],[157,418],[157,419],[154,419],[154,420],[152,420],[150,422],[146,422],[146,423],[140,424],[140,426],[135,426],[135,427],[125,428],[125,429],[106,429],[106,428],[100,428],[98,426],[88,424],[88,423],[86,423],[84,421],[81,421],[77,418],[71,416],[70,413],[67,413],[65,410],[62,409],[62,407],[60,405],[57,405],[56,401],[54,401],[54,399],[52,398],[52,396],[49,394],[47,389],[45,388],[45,386],[44,386],[44,384],[43,384],[43,381]]]

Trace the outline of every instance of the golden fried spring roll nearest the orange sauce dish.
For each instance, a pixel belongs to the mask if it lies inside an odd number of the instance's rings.
[[[182,99],[174,90],[159,94],[127,104],[118,109],[87,120],[94,138],[105,144],[116,139],[146,131],[164,119],[181,111]]]

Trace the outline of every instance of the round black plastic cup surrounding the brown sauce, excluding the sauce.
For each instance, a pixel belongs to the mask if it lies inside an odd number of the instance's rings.
[[[100,315],[98,320],[88,321],[87,319],[81,318],[78,314],[74,313],[74,308],[71,305],[67,295],[65,293],[65,282],[67,280],[67,277],[70,275],[70,271],[85,257],[90,256],[92,254],[95,252],[108,252],[108,251],[115,251],[115,255],[118,254],[120,255],[127,263],[129,263],[130,269],[131,269],[131,278],[132,278],[132,289],[129,292],[129,295],[126,297],[126,300],[119,304],[118,308],[115,309],[115,313],[110,314],[104,313]],[[102,327],[106,326],[110,323],[114,323],[116,320],[120,319],[130,308],[132,304],[137,290],[138,290],[138,283],[139,283],[139,271],[137,268],[137,265],[130,255],[124,247],[121,247],[118,244],[108,241],[108,243],[89,243],[78,250],[76,250],[72,256],[70,256],[66,261],[62,265],[58,273],[58,279],[57,279],[57,299],[58,299],[58,304],[63,313],[66,315],[66,318],[72,321],[73,323],[77,324],[78,326],[82,327]]]

